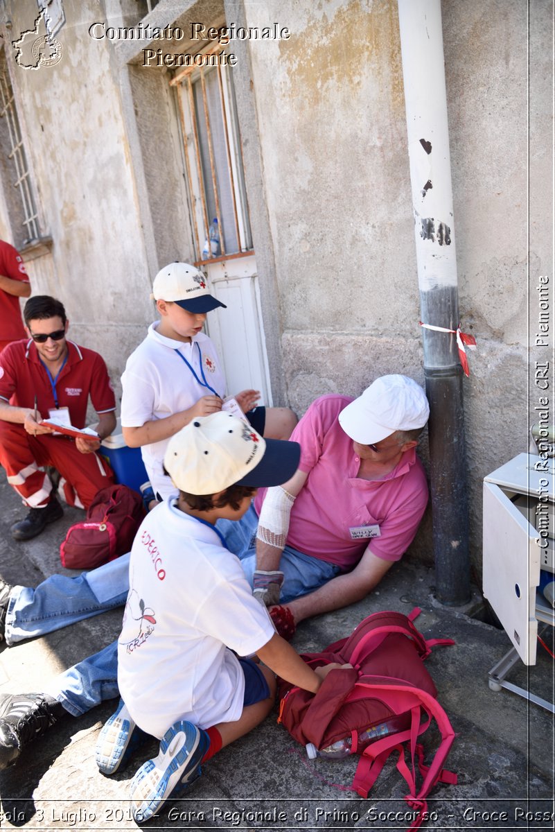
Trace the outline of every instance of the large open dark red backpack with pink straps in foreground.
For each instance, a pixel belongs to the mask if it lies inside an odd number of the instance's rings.
[[[425,798],[437,782],[456,784],[457,776],[443,769],[454,740],[454,731],[422,660],[435,645],[452,645],[451,639],[429,639],[412,623],[420,613],[406,617],[400,612],[376,612],[356,626],[348,638],[336,641],[321,653],[302,656],[308,665],[319,667],[332,661],[353,669],[331,671],[317,694],[279,680],[281,700],[278,722],[302,745],[317,749],[351,737],[351,754],[360,754],[352,787],[366,798],[392,751],[398,753],[397,769],[410,788],[405,800],[415,810],[410,829],[427,820]],[[401,717],[401,719],[400,719]],[[422,745],[416,742],[432,719],[441,733],[440,747],[430,766],[424,765]],[[405,730],[398,730],[405,721]],[[359,749],[358,738],[369,726],[383,726],[392,733],[372,740]],[[408,744],[410,761],[405,761]],[[415,755],[423,782],[416,785]]]

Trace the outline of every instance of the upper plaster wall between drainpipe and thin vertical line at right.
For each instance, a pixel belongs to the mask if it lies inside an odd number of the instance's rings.
[[[528,4],[442,10],[460,306],[480,340],[526,347]]]

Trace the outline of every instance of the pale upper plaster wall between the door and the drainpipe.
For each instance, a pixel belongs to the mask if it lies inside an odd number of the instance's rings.
[[[263,26],[275,8],[247,15]],[[414,334],[396,3],[285,2],[279,22],[291,39],[251,52],[285,329]]]

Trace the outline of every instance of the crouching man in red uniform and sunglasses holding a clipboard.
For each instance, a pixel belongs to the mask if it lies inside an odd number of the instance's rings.
[[[96,453],[100,440],[52,435],[43,418],[83,428],[89,396],[103,439],[115,428],[115,396],[106,364],[91,349],[66,340],[68,321],[59,300],[37,295],[23,310],[28,339],[15,341],[0,355],[0,465],[7,482],[30,509],[12,526],[15,540],[29,540],[62,509],[52,483],[40,468],[61,474],[66,503],[87,508],[96,493],[114,482],[110,466]],[[37,404],[37,414],[35,413]]]

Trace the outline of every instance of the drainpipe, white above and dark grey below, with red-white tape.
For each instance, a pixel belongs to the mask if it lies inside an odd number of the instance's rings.
[[[398,0],[420,314],[457,329],[459,297],[440,0]],[[470,599],[463,376],[454,334],[422,328],[430,401],[435,592]]]

